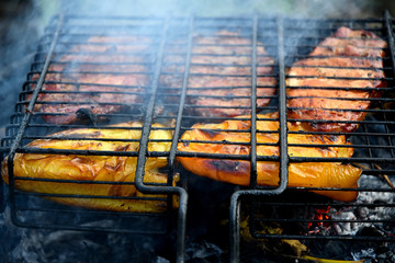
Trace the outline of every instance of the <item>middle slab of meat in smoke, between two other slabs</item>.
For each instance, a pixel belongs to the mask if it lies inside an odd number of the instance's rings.
[[[249,114],[251,107],[251,41],[239,33],[221,31],[193,38],[188,79],[187,111],[200,116],[233,117]],[[262,44],[257,47],[257,106],[269,104],[275,94],[274,60]],[[184,62],[182,56],[168,56],[167,62]],[[181,88],[184,67],[167,66],[161,83]],[[177,72],[178,75],[174,75]]]

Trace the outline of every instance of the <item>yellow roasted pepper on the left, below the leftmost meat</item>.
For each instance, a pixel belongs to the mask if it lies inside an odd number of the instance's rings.
[[[142,123],[129,122],[113,125],[110,128],[69,129],[50,135],[53,137],[50,139],[33,140],[26,147],[32,149],[136,152],[139,147],[142,126]],[[159,124],[154,124],[153,127],[157,129],[150,133],[151,142],[148,144],[148,150],[169,151],[170,142],[155,140],[170,140],[171,133],[160,129],[163,126]],[[83,138],[83,140],[78,138]],[[8,159],[2,162],[1,173],[8,183],[7,163]],[[166,210],[167,198],[165,196],[145,195],[138,192],[134,184],[131,184],[135,179],[136,164],[137,157],[16,153],[13,160],[13,173],[14,176],[19,178],[35,179],[34,181],[15,179],[15,188],[21,191],[53,195],[92,195],[92,198],[47,197],[66,205],[117,211]],[[144,182],[166,184],[167,175],[158,171],[166,165],[166,158],[147,158]],[[38,181],[40,179],[59,180],[59,182]],[[82,183],[70,182],[74,180],[82,181]],[[92,183],[83,183],[83,181],[91,181]],[[111,184],[111,182],[115,184]],[[94,198],[94,196],[112,198]],[[163,199],[160,201],[159,198]]]

